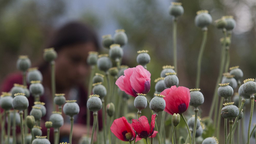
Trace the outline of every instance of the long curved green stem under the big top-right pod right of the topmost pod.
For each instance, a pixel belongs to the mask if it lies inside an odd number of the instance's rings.
[[[206,30],[203,30],[203,40],[202,44],[200,47],[199,55],[198,55],[198,60],[197,60],[197,78],[196,78],[196,89],[199,88],[200,86],[200,76],[201,76],[201,63],[202,63],[202,57],[204,54],[204,48],[207,40],[207,28]]]

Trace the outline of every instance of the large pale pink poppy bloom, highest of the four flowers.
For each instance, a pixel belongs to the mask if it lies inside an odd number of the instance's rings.
[[[120,76],[115,84],[126,94],[136,97],[137,94],[147,94],[150,90],[150,72],[138,65],[135,68],[124,70],[124,76]]]

